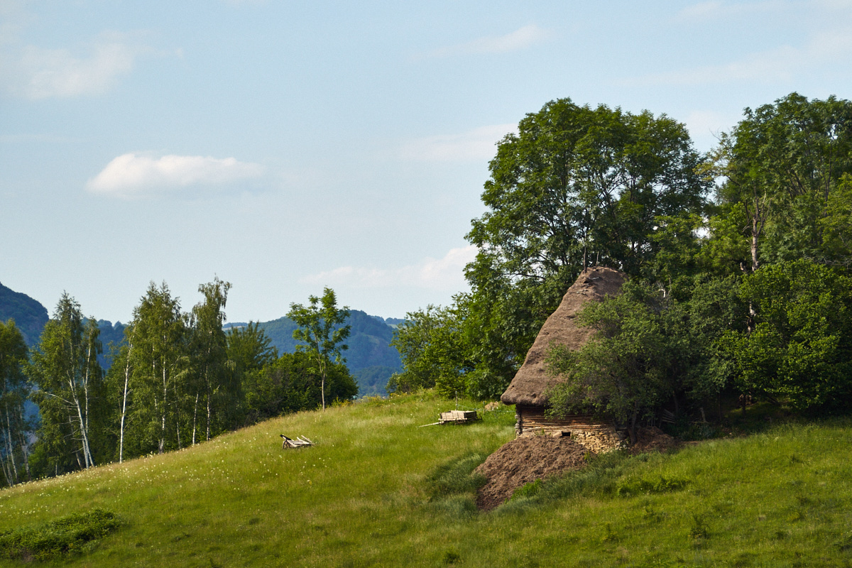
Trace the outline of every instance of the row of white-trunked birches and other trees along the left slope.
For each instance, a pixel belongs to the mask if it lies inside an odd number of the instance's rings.
[[[97,322],[67,293],[30,350],[14,320],[0,322],[3,481],[179,450],[358,393],[341,356],[348,308],[333,290],[291,304],[302,345],[279,355],[256,323],[222,329],[230,288],[200,285],[203,300],[184,312],[165,283],[150,284],[106,372]]]

